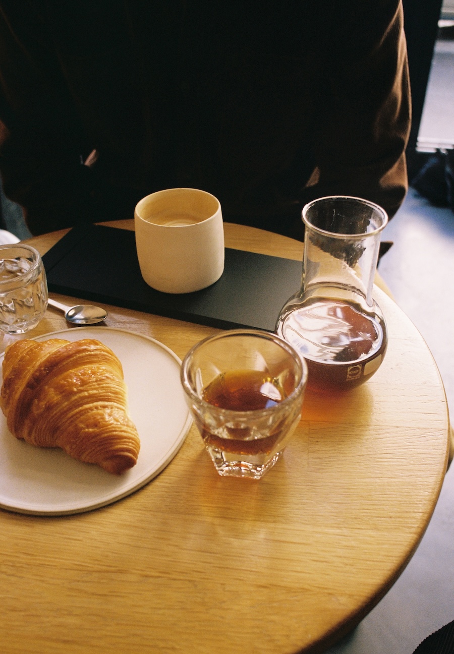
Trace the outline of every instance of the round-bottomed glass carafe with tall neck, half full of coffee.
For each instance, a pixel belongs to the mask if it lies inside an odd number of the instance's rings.
[[[281,310],[276,332],[306,360],[308,388],[349,390],[385,356],[387,328],[372,288],[388,216],[348,196],[314,200],[302,216],[302,285]]]

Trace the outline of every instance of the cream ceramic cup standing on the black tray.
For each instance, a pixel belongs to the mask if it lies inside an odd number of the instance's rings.
[[[215,196],[169,188],[135,207],[135,244],[142,277],[164,293],[211,286],[224,271],[222,211]]]

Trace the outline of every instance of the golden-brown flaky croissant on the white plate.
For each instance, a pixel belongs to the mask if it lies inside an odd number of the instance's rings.
[[[122,365],[99,341],[16,341],[5,351],[0,407],[10,432],[31,445],[114,474],[137,462]]]

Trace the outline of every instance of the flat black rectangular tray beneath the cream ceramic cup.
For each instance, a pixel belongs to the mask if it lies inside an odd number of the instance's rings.
[[[227,248],[215,284],[195,293],[161,293],[142,279],[135,233],[93,224],[70,230],[43,262],[50,291],[221,329],[269,332],[300,287],[302,271],[298,261]]]

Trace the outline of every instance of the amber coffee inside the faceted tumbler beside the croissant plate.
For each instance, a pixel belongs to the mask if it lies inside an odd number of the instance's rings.
[[[218,375],[203,390],[203,400],[220,409],[232,411],[254,411],[268,409],[281,402],[287,395],[277,379],[258,370],[228,371]],[[286,426],[287,428],[287,426]],[[283,438],[282,429],[277,429],[265,438],[247,439],[250,428],[226,427],[225,438],[212,434],[205,425],[201,436],[207,445],[224,452],[239,455],[260,455],[270,453],[275,444]]]

